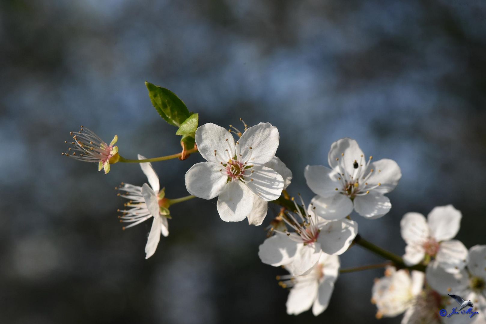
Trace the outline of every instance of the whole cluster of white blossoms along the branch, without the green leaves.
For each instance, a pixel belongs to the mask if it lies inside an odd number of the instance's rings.
[[[444,323],[445,309],[454,303],[447,294],[461,295],[471,305],[469,316],[455,316],[453,323],[486,323],[486,245],[468,249],[454,237],[462,214],[452,205],[435,207],[427,219],[410,212],[400,222],[406,242],[403,257],[394,255],[358,235],[358,223],[352,212],[368,220],[386,215],[391,203],[385,194],[397,187],[401,178],[398,164],[390,159],[374,161],[365,157],[358,143],[342,138],[332,143],[329,167],[307,166],[304,177],[315,196],[305,204],[298,202],[287,189],[293,174],[275,154],[279,133],[270,123],[259,123],[244,131],[229,131],[213,123],[191,130],[195,145],[206,162],[196,163],[185,174],[185,185],[191,196],[178,199],[165,197],[159,179],[149,161],[188,155],[183,153],[160,158],[128,160],[114,146],[87,128],[74,134],[73,147],[63,153],[75,159],[95,162],[108,173],[110,163],[139,163],[147,176],[141,187],[121,184],[119,195],[128,200],[119,216],[125,228],[153,219],[145,246],[145,257],[156,252],[160,235],[169,235],[169,207],[195,197],[218,198],[216,209],[225,222],[248,220],[261,225],[268,213],[268,203],[280,211],[267,227],[269,235],[259,247],[264,264],[282,267],[289,274],[278,275],[279,286],[290,289],[286,308],[297,315],[312,308],[315,316],[329,305],[334,283],[340,272],[385,267],[385,275],[376,279],[371,301],[377,307],[377,318],[404,313],[402,324]],[[181,126],[181,128],[183,128]],[[195,130],[195,132],[194,132]],[[67,143],[67,142],[66,142]],[[186,152],[186,153],[187,153]],[[339,256],[353,244],[389,260],[386,264],[340,270]],[[469,304],[468,304],[469,305]],[[447,311],[446,311],[447,313]],[[474,317],[474,315],[479,314]],[[472,318],[472,321],[471,321]],[[467,320],[466,320],[467,319]],[[469,322],[468,322],[469,320]],[[449,321],[449,322],[451,322]],[[464,322],[466,321],[466,322]]]

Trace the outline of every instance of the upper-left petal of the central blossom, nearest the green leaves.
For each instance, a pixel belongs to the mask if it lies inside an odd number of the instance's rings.
[[[195,139],[197,150],[209,162],[226,163],[230,157],[235,156],[235,139],[221,126],[210,122],[199,126]]]

